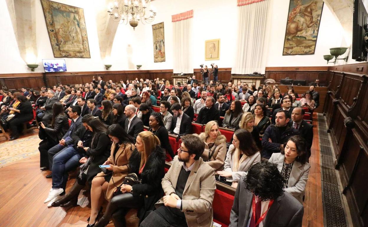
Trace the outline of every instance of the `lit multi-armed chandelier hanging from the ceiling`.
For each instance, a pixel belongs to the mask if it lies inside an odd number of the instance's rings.
[[[114,21],[120,24],[129,24],[135,30],[138,22],[142,24],[151,23],[156,16],[156,12],[150,7],[151,0],[116,0],[114,6],[110,3],[107,13]]]

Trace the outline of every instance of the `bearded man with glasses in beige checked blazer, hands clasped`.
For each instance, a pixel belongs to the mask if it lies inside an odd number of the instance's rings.
[[[181,137],[178,155],[162,179],[165,193],[141,227],[211,227],[216,180],[213,169],[200,157],[204,142],[195,135]]]

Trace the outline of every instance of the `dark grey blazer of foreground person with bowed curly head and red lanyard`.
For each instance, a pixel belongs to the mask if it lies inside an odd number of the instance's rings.
[[[253,194],[244,187],[243,179],[236,188],[233,207],[230,212],[229,227],[245,227],[249,221]],[[263,226],[267,227],[301,227],[303,205],[288,192],[273,201]]]

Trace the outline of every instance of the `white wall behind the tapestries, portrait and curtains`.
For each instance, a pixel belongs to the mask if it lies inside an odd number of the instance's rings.
[[[237,0],[155,0],[151,4],[158,14],[154,22],[137,26],[135,31],[130,25],[118,26],[110,59],[101,59],[96,29],[96,7],[101,7],[98,0],[56,0],[63,4],[84,8],[89,49],[91,58],[65,58],[68,71],[101,71],[104,64],[112,64],[110,70],[133,70],[141,64],[142,70],[173,68],[173,25],[171,15],[194,10],[192,64],[210,65],[214,62],[220,68],[232,67],[236,53],[236,28],[238,19]],[[343,29],[337,19],[325,5],[316,43],[315,54],[282,56],[287,13],[290,0],[272,0],[266,67],[280,66],[323,66],[323,55],[329,54],[329,48],[350,46],[343,39]],[[107,8],[107,7],[106,7]],[[153,62],[152,24],[164,22],[166,61]],[[36,31],[38,43],[38,60],[40,66],[36,72],[43,72],[42,59],[54,58],[45,18],[40,1],[36,1]],[[6,2],[0,1],[0,74],[30,72],[19,54]],[[5,35],[4,35],[5,34]],[[205,61],[205,40],[220,39],[220,60]],[[348,63],[356,63],[350,59]],[[346,64],[338,61],[337,64]],[[329,64],[331,65],[331,64]]]

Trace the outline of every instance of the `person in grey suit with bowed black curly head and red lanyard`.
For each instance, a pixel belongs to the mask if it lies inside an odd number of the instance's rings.
[[[238,184],[229,227],[301,227],[303,213],[303,205],[283,191],[283,177],[277,165],[259,162]]]

